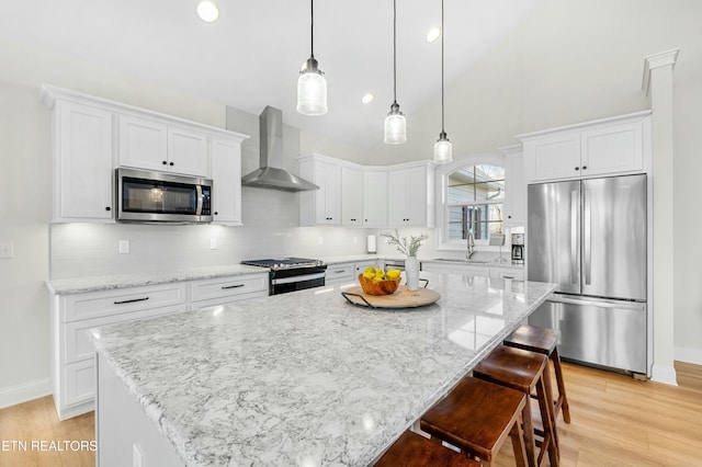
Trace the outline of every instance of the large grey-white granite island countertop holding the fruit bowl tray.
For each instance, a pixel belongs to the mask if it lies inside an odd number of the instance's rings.
[[[324,287],[91,339],[188,466],[365,466],[555,288],[422,277],[437,304],[370,309]]]

